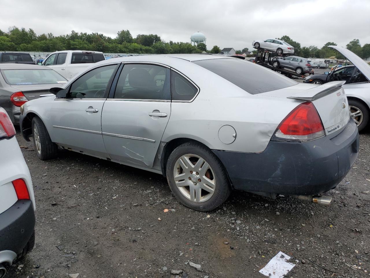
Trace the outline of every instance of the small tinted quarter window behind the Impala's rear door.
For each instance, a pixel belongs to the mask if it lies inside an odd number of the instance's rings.
[[[172,71],[171,77],[172,100],[191,100],[198,89],[178,73]]]

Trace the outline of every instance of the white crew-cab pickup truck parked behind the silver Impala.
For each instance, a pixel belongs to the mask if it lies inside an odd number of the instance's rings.
[[[102,52],[65,50],[51,53],[42,63],[58,72],[67,80],[70,80],[77,73],[96,63],[105,60]]]

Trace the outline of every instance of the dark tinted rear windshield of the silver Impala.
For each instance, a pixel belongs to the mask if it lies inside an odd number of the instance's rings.
[[[252,95],[297,84],[279,73],[240,59],[212,59],[194,63],[216,73]]]

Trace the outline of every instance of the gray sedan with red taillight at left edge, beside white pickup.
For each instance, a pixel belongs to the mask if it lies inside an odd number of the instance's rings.
[[[19,125],[20,106],[49,94],[51,87],[61,87],[67,80],[54,70],[31,64],[0,64],[0,107],[13,125]]]

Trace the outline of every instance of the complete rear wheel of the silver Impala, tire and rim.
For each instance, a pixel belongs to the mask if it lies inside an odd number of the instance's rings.
[[[181,179],[180,175],[183,174],[184,179]],[[167,160],[166,176],[169,187],[179,202],[197,211],[217,208],[231,192],[222,163],[211,150],[196,142],[184,143],[172,151]]]

